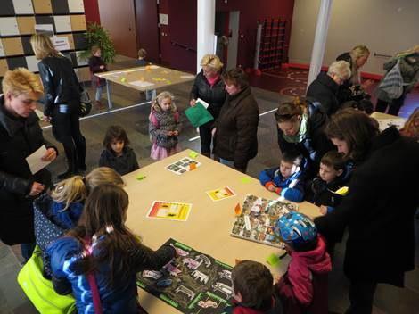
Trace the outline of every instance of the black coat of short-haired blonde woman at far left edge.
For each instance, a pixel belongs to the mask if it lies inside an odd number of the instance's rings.
[[[34,182],[51,186],[47,169],[35,175],[30,172],[26,158],[45,145],[37,115],[15,118],[4,109],[0,96],[0,240],[4,244],[35,241],[33,198],[29,192]]]

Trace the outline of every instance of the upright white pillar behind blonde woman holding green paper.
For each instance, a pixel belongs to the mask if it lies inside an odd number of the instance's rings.
[[[216,0],[197,0],[196,72],[205,54],[215,54]]]

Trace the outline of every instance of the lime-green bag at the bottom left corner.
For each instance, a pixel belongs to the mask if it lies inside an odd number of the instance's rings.
[[[44,265],[38,246],[18,274],[23,292],[41,313],[76,313],[76,300],[72,294],[60,295],[53,290],[53,282],[43,275]]]

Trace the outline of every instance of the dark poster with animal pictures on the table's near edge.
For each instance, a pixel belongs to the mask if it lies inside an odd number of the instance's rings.
[[[233,297],[232,267],[169,239],[177,258],[159,271],[144,270],[137,285],[182,313],[222,313]]]

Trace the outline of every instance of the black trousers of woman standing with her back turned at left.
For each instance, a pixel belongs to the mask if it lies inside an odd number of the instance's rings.
[[[69,164],[69,170],[76,172],[86,166],[86,139],[80,131],[78,111],[66,104],[56,104],[53,108],[53,136],[62,143]]]

